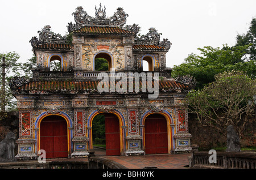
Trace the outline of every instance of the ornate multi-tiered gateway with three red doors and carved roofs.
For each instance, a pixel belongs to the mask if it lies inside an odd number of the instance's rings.
[[[106,156],[190,151],[182,103],[192,84],[171,78],[171,42],[160,41],[155,28],[138,37],[139,26],[125,25],[122,8],[108,18],[105,7],[95,9],[92,17],[77,7],[68,36],[46,25],[32,37],[33,76],[10,83],[19,109],[16,158],[37,158],[40,149],[47,158],[87,157],[98,114],[105,115]],[[98,58],[108,61],[108,71],[96,69]]]

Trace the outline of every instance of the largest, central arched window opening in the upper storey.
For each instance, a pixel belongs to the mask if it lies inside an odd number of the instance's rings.
[[[110,71],[112,68],[112,58],[107,53],[99,53],[94,58],[95,71]]]

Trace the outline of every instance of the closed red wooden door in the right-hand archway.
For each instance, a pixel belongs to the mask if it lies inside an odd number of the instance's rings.
[[[145,120],[145,153],[168,153],[166,118],[160,114],[150,114]]]

